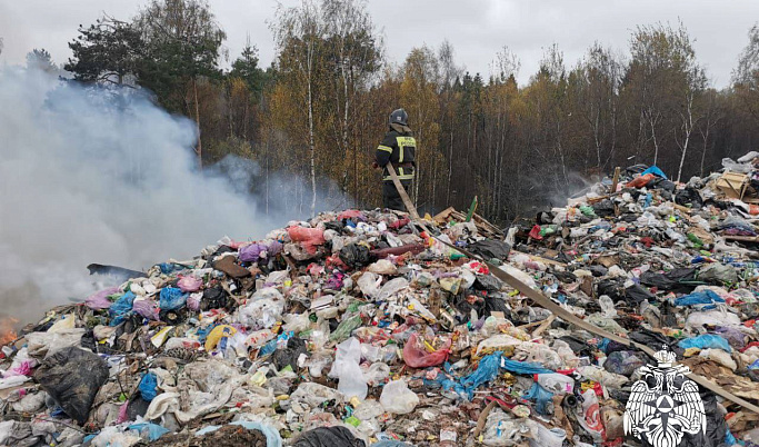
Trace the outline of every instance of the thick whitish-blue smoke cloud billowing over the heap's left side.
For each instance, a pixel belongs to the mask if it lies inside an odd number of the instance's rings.
[[[0,68],[0,302],[23,320],[101,286],[90,262],[143,269],[282,224],[247,178],[199,173],[193,123],[130,89]]]

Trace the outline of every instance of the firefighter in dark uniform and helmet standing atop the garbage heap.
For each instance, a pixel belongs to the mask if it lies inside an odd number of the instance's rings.
[[[409,116],[403,109],[390,113],[390,129],[377,147],[373,162],[374,168],[382,168],[382,206],[398,211],[405,211],[406,207],[392,182],[387,165],[392,165],[403,189],[408,191],[417,166],[415,162],[417,140],[408,126],[408,119]]]

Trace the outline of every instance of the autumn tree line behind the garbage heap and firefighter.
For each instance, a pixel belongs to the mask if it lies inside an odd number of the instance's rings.
[[[418,141],[417,206],[466,209],[477,196],[498,222],[561,205],[616,166],[657,165],[687,181],[757,149],[757,27],[730,86],[717,89],[682,23],[640,26],[626,50],[597,42],[575,62],[550,46],[525,85],[508,47],[489,73],[459,66],[449,42],[393,63],[362,0],[303,0],[269,26],[270,67],[248,41],[222,70],[227,37],[206,0],[152,0],[130,20],[80,27],[63,68],[100,88],[141,89],[192,119],[199,169],[230,155],[254,160],[262,175],[250,188],[300,211],[316,208],[317,191],[349,197],[344,207],[381,203],[370,165],[399,107]],[[282,195],[269,190],[270,172],[308,181]]]

